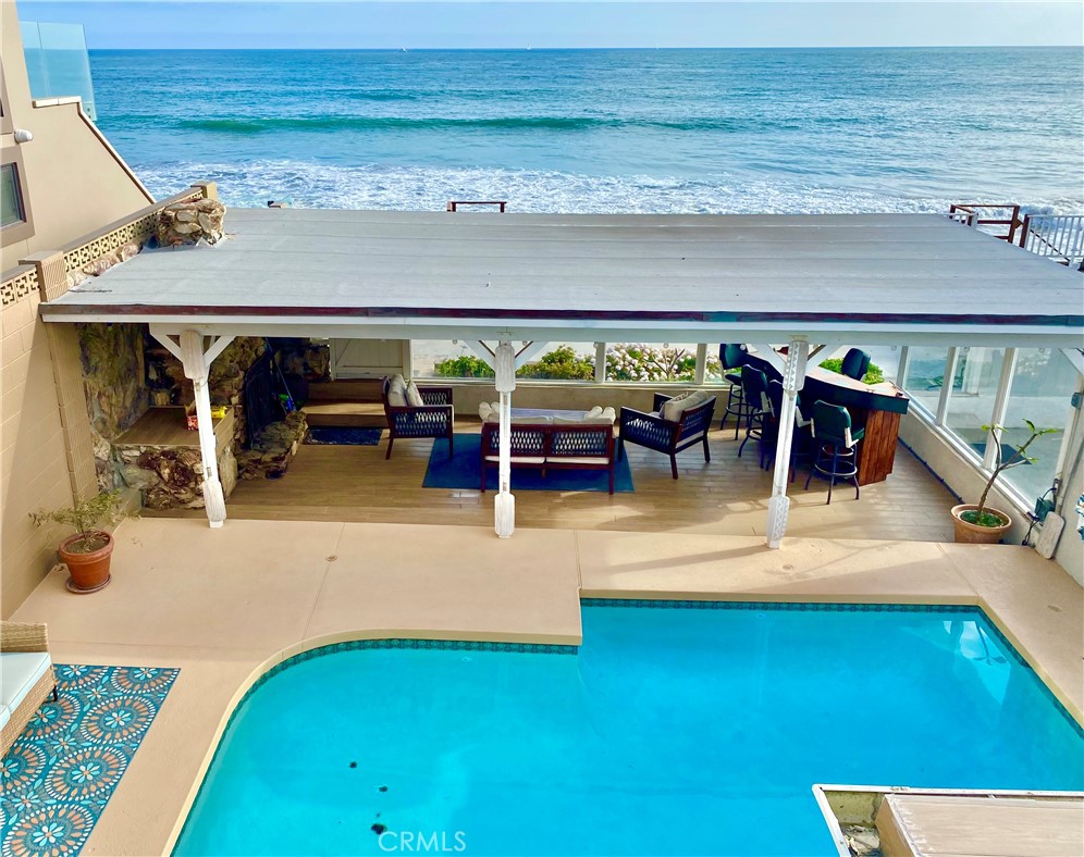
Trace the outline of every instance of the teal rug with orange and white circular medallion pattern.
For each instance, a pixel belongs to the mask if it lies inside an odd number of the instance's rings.
[[[78,854],[180,670],[57,663],[50,698],[0,761],[0,854]]]

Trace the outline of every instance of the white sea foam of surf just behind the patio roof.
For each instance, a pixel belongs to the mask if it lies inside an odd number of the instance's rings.
[[[288,200],[295,208],[443,211],[451,199],[504,199],[517,212],[565,213],[944,213],[950,202],[886,190],[832,187],[778,177],[703,178],[434,166],[345,167],[303,161],[147,165],[137,173],[167,196],[194,181],[219,183],[226,204],[260,207]],[[1021,200],[1042,213],[1079,211],[1080,200]]]

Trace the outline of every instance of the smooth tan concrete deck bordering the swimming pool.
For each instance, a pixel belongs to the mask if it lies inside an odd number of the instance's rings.
[[[237,520],[115,535],[109,587],[74,596],[58,569],[13,617],[48,622],[59,662],[181,669],[86,854],[167,852],[229,712],[282,658],[366,637],[575,644],[581,595],[978,605],[1084,720],[1082,591],[1028,548]]]

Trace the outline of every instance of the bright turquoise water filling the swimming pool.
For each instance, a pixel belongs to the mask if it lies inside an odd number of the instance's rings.
[[[1084,736],[974,609],[586,603],[576,654],[273,674],[175,853],[834,854],[815,782],[1079,790]]]

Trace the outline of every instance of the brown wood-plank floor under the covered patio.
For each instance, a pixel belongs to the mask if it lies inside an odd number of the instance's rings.
[[[460,432],[478,424],[457,421]],[[300,521],[371,521],[491,525],[492,494],[472,489],[422,488],[431,440],[399,440],[384,460],[380,446],[304,446],[281,480],[242,481],[227,502],[231,517]],[[713,431],[711,463],[699,448],[678,455],[680,479],[670,479],[666,456],[629,446],[636,490],[613,497],[593,492],[521,490],[516,521],[521,527],[631,530],[720,535],[763,535],[772,474],[757,467],[748,446],[737,457],[732,433]],[[887,482],[866,485],[861,499],[838,485],[825,504],[826,483],[802,489],[805,471],[792,483],[790,536],[950,542],[951,494],[904,447]],[[513,473],[515,490],[515,473]],[[151,516],[202,516],[148,512]]]

